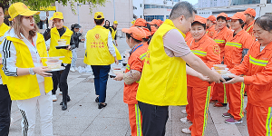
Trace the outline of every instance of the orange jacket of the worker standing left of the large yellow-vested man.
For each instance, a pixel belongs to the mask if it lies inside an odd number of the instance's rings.
[[[141,47],[138,47],[141,46]],[[137,48],[138,47],[138,48]],[[125,73],[129,73],[131,70],[141,72],[143,68],[144,59],[149,45],[147,43],[138,44],[134,47],[134,52],[131,53],[128,64],[126,66]],[[137,104],[136,94],[138,90],[139,82],[126,84],[123,88],[123,102],[128,104]]]

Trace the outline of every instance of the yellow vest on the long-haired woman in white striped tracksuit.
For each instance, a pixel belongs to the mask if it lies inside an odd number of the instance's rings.
[[[41,57],[47,57],[44,36],[37,34],[36,48]],[[6,37],[7,40],[12,41],[16,49],[16,66],[19,68],[34,67],[31,53],[26,44],[20,39],[15,37]],[[43,62],[44,66],[45,60]],[[9,76],[7,88],[12,100],[25,100],[40,96],[39,84],[36,75],[22,75],[22,76]],[[44,77],[45,92],[51,92],[53,89],[53,81],[51,77]]]

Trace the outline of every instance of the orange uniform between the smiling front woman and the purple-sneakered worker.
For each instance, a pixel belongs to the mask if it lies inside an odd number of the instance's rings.
[[[233,32],[225,26],[218,34],[215,34],[213,39],[214,41],[219,44],[220,47],[220,58],[221,62],[223,62],[223,58],[225,55],[225,44],[227,43],[228,39],[231,38]],[[227,103],[227,92],[226,86],[223,83],[216,83],[213,88],[212,100],[218,100],[221,103]]]

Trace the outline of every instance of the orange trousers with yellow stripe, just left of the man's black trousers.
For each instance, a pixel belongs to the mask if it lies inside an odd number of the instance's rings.
[[[129,118],[131,125],[131,136],[142,136],[141,132],[141,111],[138,104],[128,104]]]

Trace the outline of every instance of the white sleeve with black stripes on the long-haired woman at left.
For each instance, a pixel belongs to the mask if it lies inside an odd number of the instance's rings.
[[[3,57],[3,68],[6,76],[18,76],[16,67],[16,49],[15,45],[6,40],[2,43],[2,57]]]

